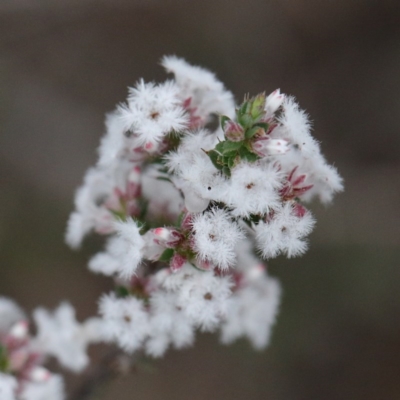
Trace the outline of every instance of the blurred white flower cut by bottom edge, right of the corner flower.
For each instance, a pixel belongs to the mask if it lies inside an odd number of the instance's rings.
[[[26,382],[22,386],[20,400],[63,400],[64,382],[60,375],[51,374],[43,382]],[[0,397],[1,399],[1,397]]]

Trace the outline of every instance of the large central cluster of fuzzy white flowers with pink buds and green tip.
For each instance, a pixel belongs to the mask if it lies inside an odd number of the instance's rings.
[[[107,116],[67,243],[107,235],[89,262],[116,284],[100,299],[103,339],[161,356],[202,330],[262,348],[280,286],[260,258],[303,254],[315,224],[304,202],[330,201],[341,178],[293,97],[276,90],[236,106],[211,72],[177,57],[162,65],[172,80],[140,81]]]

